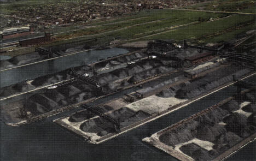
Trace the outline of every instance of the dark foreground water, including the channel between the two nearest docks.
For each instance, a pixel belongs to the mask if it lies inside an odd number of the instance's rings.
[[[89,144],[79,136],[52,122],[55,118],[67,114],[59,114],[21,127],[9,127],[1,122],[1,160],[174,161],[177,159],[148,145],[142,139],[232,96],[235,91],[236,87],[234,86],[225,88],[99,145]],[[75,109],[69,113],[74,111]],[[228,160],[253,160],[256,153],[255,147],[254,141]]]

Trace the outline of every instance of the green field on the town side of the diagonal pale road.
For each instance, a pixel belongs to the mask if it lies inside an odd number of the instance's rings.
[[[106,24],[103,26],[97,26],[92,28],[85,28],[69,34],[57,35],[56,39],[62,39],[64,37],[73,38],[78,36],[83,36],[80,38],[72,39],[82,40],[87,39],[86,35],[100,34],[106,35],[108,37],[121,38],[121,39],[131,39],[141,37],[147,34],[152,34],[150,32],[158,32],[156,30],[162,30],[167,27],[183,25],[190,22],[195,22],[201,19],[207,21],[210,18],[217,19],[219,17],[227,16],[227,14],[214,14],[214,13],[199,13],[194,11],[179,11],[179,10],[151,10],[150,12],[144,11],[139,13],[136,17],[142,17],[141,19],[136,20],[127,20],[125,22]],[[123,20],[122,20],[123,21]],[[154,22],[156,21],[156,22]],[[117,22],[117,21],[116,21]],[[111,23],[108,22],[108,23]],[[95,24],[91,24],[95,25]],[[114,31],[117,30],[118,31]],[[113,31],[113,32],[110,32]],[[110,32],[104,34],[106,32]],[[102,37],[100,35],[100,37]],[[91,38],[91,37],[90,37]]]

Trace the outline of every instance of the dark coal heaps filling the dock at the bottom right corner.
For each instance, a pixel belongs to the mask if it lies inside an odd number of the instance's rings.
[[[249,117],[238,112],[242,103],[248,101],[248,98],[255,98],[255,91],[245,94],[242,100],[232,99],[193,120],[179,124],[160,135],[159,140],[173,148],[182,144],[179,150],[195,160],[214,159],[256,132],[255,104],[251,103],[242,108],[251,112]],[[213,146],[206,148],[199,141],[193,142],[194,139],[208,141]]]

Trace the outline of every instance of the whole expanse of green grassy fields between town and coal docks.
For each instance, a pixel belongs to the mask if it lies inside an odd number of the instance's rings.
[[[226,1],[230,2],[230,0]],[[237,1],[234,2],[238,3]],[[208,3],[205,4],[208,5]],[[196,6],[193,5],[193,7]],[[246,8],[243,11],[250,9],[252,8]],[[210,19],[213,21],[210,21]],[[190,24],[191,22],[195,23]],[[187,26],[175,27],[184,24],[187,24]],[[245,33],[254,28],[254,15],[153,9],[142,11],[136,15],[114,17],[110,20],[96,20],[82,26],[73,25],[60,28],[59,32],[68,29],[79,30],[58,34],[52,43],[43,46],[75,44],[87,41],[92,42],[90,45],[107,45],[110,41],[117,39],[121,42],[134,41],[132,39],[174,39],[177,41],[189,39],[204,44],[234,39],[237,34]],[[95,40],[91,41],[91,39]]]

